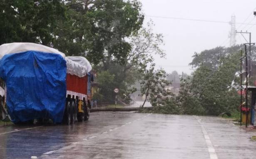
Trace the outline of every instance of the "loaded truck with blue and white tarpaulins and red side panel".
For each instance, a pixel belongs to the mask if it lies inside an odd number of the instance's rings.
[[[15,124],[52,120],[74,124],[89,119],[92,66],[81,56],[65,56],[36,43],[0,46],[3,118]]]

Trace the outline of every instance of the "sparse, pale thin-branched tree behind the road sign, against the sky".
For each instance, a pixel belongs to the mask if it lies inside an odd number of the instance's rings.
[[[154,34],[152,30],[152,22],[148,23],[148,29],[142,28],[136,34],[133,34],[129,39],[129,44],[132,46],[124,63],[116,63],[115,59],[111,59],[108,65],[108,72],[115,76],[114,81],[111,83],[112,89],[105,92],[106,96],[112,94],[114,88],[119,88],[119,97],[124,99],[124,102],[129,103],[130,94],[136,89],[132,85],[140,80],[143,76],[139,72],[141,65],[148,63],[152,59],[153,54],[165,55],[164,51],[160,48],[163,43],[161,34]],[[100,73],[104,70],[103,66],[94,67]],[[104,94],[102,94],[104,96]],[[114,98],[113,97],[111,99]]]

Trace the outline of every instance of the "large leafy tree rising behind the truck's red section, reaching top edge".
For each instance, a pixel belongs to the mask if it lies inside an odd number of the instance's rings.
[[[137,0],[66,0],[68,20],[60,22],[54,46],[67,55],[86,56],[108,70],[122,63],[131,49],[126,38],[143,23]],[[68,37],[68,39],[67,39]],[[79,49],[76,49],[79,48]]]

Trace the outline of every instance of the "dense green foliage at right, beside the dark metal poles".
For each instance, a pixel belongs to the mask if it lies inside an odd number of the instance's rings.
[[[240,48],[218,47],[194,57],[192,63],[198,68],[181,82],[179,105],[185,114],[219,115],[236,110],[239,95],[230,85],[239,70]]]

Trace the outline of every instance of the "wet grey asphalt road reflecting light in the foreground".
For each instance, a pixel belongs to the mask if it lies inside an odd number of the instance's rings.
[[[255,159],[252,135],[217,117],[91,113],[71,126],[0,128],[0,159]]]

